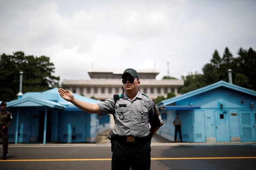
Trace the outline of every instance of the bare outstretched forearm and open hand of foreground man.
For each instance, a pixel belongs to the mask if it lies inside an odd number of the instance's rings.
[[[88,113],[97,113],[97,114],[101,113],[100,108],[98,107],[97,104],[91,104],[91,103],[79,101],[74,98],[73,93],[69,90],[59,88],[58,92],[62,98],[64,98],[66,101],[71,102],[72,104],[74,104],[76,107],[78,107],[81,110],[84,110]]]

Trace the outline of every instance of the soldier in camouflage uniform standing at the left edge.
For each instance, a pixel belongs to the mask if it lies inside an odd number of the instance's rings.
[[[2,101],[0,112],[0,138],[3,140],[3,157],[2,159],[7,159],[6,154],[8,154],[8,126],[12,124],[12,114],[6,110],[6,102]]]

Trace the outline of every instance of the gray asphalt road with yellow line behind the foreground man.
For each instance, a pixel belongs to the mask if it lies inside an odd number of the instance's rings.
[[[152,170],[255,170],[256,144],[152,143]],[[1,170],[109,170],[110,144],[11,144]]]

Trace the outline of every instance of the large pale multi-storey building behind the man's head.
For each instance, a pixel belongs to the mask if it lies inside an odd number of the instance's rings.
[[[140,78],[139,91],[147,94],[153,100],[157,96],[167,97],[167,93],[173,92],[176,96],[178,88],[183,86],[183,80],[164,79],[156,80],[159,74],[156,70],[137,70]],[[123,92],[121,77],[123,70],[90,70],[88,72],[91,79],[89,80],[63,80],[64,86],[70,91],[82,94],[86,97],[94,96],[98,100],[105,100],[113,94]]]

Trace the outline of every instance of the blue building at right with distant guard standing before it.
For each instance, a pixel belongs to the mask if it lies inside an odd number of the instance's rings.
[[[184,142],[256,142],[255,104],[256,91],[219,81],[158,103],[158,134],[174,141],[179,114]]]

